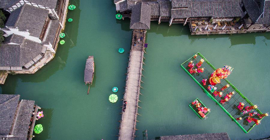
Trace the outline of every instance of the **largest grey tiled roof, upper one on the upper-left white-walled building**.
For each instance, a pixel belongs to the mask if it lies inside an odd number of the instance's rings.
[[[31,15],[31,18],[30,16]],[[24,4],[11,12],[6,26],[18,27],[19,30],[29,30],[31,36],[40,37],[49,10]]]

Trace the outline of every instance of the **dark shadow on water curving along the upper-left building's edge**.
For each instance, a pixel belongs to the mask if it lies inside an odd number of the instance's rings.
[[[77,43],[79,15],[81,12],[81,10],[79,9],[79,1],[76,2],[73,0],[70,3],[76,3],[76,5],[78,6],[76,8],[77,13],[73,13],[73,12],[67,13],[67,19],[72,18],[73,21],[66,22],[65,24],[65,28],[69,29],[68,32],[72,33],[72,34],[67,34],[67,32],[64,31],[66,35],[63,38],[65,40],[65,44],[63,45],[58,44],[57,51],[53,60],[51,60],[46,66],[43,66],[35,74],[17,74],[16,76],[9,74],[6,79],[5,84],[0,86],[2,88],[3,93],[7,93],[6,91],[9,91],[9,94],[14,93],[18,79],[21,79],[22,82],[34,82],[34,83],[44,82],[50,76],[52,76],[57,71],[62,70],[65,67],[69,49],[76,46],[76,43]],[[52,68],[51,66],[57,66],[57,67]],[[16,78],[16,80],[14,79],[11,80],[12,78]],[[16,81],[16,82],[10,83],[9,81]],[[13,90],[12,92],[10,92],[11,89]]]

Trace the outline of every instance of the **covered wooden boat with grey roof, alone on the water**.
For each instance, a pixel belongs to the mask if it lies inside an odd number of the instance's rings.
[[[84,70],[84,82],[85,82],[85,85],[86,84],[92,85],[93,78],[94,78],[94,73],[95,73],[94,56],[89,56],[88,59],[86,60],[85,70]],[[89,85],[87,94],[89,94],[90,85]]]

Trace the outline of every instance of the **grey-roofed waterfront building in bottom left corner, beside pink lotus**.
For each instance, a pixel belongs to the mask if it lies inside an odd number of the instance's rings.
[[[0,94],[0,139],[32,140],[37,112],[35,101],[21,100],[20,95]]]

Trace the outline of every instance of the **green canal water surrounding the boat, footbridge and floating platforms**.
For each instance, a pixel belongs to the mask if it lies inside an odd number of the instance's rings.
[[[69,11],[64,45],[55,58],[35,74],[9,75],[2,94],[20,94],[35,100],[44,111],[44,131],[34,140],[116,140],[121,101],[125,86],[127,57],[131,42],[130,20],[115,19],[113,1],[70,0],[76,9]],[[259,139],[270,135],[270,117],[245,134],[180,67],[200,52],[216,68],[229,65],[234,71],[227,78],[262,112],[270,112],[269,33],[191,36],[187,26],[151,22],[149,43],[143,66],[144,89],[140,96],[136,139],[147,129],[149,139],[158,136],[227,132],[233,140]],[[119,54],[118,48],[125,53]],[[95,57],[95,77],[90,94],[83,82],[85,60]],[[108,97],[119,87],[119,101]],[[201,120],[188,107],[199,98],[211,108]]]

